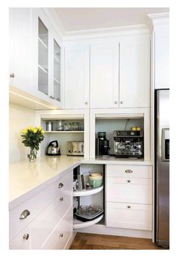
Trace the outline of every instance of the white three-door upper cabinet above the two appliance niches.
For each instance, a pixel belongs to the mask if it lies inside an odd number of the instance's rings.
[[[149,108],[149,35],[66,43],[65,108],[88,102],[89,108]]]

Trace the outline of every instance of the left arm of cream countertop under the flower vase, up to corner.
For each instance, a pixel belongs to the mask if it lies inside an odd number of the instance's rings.
[[[63,171],[77,167],[82,159],[84,158],[60,155],[37,158],[34,163],[24,160],[10,164],[9,201],[14,201],[42,183],[47,185]]]

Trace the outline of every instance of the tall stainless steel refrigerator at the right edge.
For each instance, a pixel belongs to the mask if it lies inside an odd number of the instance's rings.
[[[169,247],[169,90],[155,91],[155,99],[155,239],[158,245]]]

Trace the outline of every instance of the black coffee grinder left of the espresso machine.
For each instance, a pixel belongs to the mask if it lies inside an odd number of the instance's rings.
[[[109,140],[106,139],[106,132],[97,133],[96,155],[102,158],[109,158]]]

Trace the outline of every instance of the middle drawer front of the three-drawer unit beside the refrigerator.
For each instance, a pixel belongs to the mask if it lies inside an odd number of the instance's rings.
[[[152,180],[107,177],[106,201],[152,204]]]

